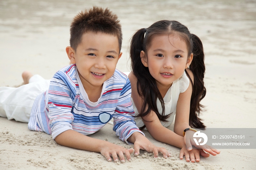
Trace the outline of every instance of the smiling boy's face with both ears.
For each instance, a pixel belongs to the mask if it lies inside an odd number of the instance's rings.
[[[100,88],[113,76],[122,55],[117,36],[101,32],[84,33],[76,52],[72,47],[67,47],[66,51],[71,63],[76,63],[84,89]]]

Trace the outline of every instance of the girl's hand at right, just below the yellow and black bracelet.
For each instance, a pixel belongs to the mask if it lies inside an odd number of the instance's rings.
[[[220,151],[218,151],[217,149],[208,146],[207,144],[204,145],[196,145],[195,141],[193,140],[193,135],[194,135],[194,131],[186,131],[185,136],[184,136],[184,143],[187,146],[187,150],[191,151],[192,150],[192,146],[195,146],[196,148],[200,148],[206,152],[208,152],[209,154],[215,156],[219,153],[221,153]],[[201,154],[202,153],[202,154]],[[203,157],[209,157],[206,155],[206,153],[203,151],[200,151],[200,155],[202,155]]]

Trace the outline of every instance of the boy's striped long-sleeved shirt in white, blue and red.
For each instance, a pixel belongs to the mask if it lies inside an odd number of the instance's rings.
[[[67,130],[90,135],[113,117],[113,130],[127,142],[133,132],[142,133],[133,116],[131,84],[125,74],[116,69],[103,83],[101,97],[93,103],[83,88],[76,65],[69,65],[55,73],[49,90],[36,98],[28,127],[51,134],[53,139]]]

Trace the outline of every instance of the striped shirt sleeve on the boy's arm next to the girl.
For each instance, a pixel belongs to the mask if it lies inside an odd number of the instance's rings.
[[[127,139],[134,132],[140,132],[144,135],[144,133],[140,131],[139,128],[136,126],[133,116],[135,116],[135,113],[133,111],[131,101],[131,83],[127,78],[127,81],[123,89],[121,90],[118,104],[113,115],[113,130],[116,131],[116,135],[119,137],[119,139],[123,140],[127,144],[131,144],[127,141]]]

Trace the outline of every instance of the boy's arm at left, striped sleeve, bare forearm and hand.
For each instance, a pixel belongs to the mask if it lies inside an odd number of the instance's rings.
[[[60,145],[81,150],[100,152],[108,161],[125,162],[131,159],[133,149],[126,149],[104,140],[90,138],[73,130],[71,125],[74,115],[71,113],[76,96],[76,85],[67,74],[57,72],[51,80],[48,90],[48,106],[50,131],[52,138]],[[118,157],[117,157],[118,155]]]

